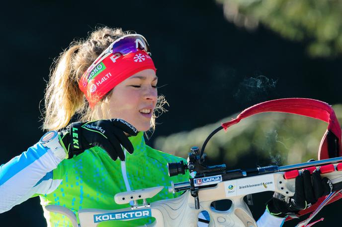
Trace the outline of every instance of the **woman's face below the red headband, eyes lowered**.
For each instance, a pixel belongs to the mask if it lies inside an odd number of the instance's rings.
[[[116,85],[108,103],[109,118],[122,118],[138,131],[149,130],[157,104],[157,81],[155,71],[145,69]]]

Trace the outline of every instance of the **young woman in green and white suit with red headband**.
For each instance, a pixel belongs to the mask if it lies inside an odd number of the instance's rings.
[[[186,181],[187,175],[168,176],[167,163],[181,158],[144,141],[144,132],[154,129],[154,113],[165,102],[157,95],[157,81],[148,43],[141,35],[104,27],[87,40],[72,43],[56,61],[47,86],[43,126],[49,132],[0,168],[0,213],[40,196],[48,226],[71,226],[68,218],[44,207],[60,205],[74,212],[121,209],[129,205],[114,202],[118,192]],[[80,122],[66,127],[74,116]],[[174,196],[179,194],[165,188],[149,202]],[[285,200],[276,199],[259,226],[280,226],[285,213],[293,211],[293,206],[286,210]],[[284,209],[279,211],[279,204]],[[142,226],[153,221],[99,226]]]

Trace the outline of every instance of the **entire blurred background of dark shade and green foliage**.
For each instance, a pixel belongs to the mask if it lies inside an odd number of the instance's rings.
[[[220,123],[259,102],[289,97],[333,105],[342,122],[342,0],[125,0],[7,2],[0,9],[0,164],[43,135],[50,65],[98,26],[144,35],[170,104],[148,144],[186,158]],[[317,159],[325,122],[259,114],[209,142],[208,163],[228,169]],[[254,196],[256,220],[272,193]],[[317,215],[336,223],[342,202]],[[284,226],[295,226],[291,221]],[[39,198],[0,214],[1,226],[46,226]]]

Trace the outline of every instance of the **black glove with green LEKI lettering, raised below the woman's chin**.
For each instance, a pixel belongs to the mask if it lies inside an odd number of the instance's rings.
[[[59,131],[68,159],[78,155],[91,147],[100,147],[108,152],[115,161],[119,158],[125,160],[121,145],[128,153],[134,151],[131,141],[125,133],[136,136],[137,129],[127,121],[119,118],[102,119],[89,122],[74,122],[65,130]]]

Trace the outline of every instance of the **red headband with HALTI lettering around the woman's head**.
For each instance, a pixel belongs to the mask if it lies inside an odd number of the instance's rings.
[[[85,71],[79,87],[85,93],[90,108],[93,108],[116,85],[144,69],[157,70],[152,58],[143,50],[127,55],[110,54],[91,71]]]

